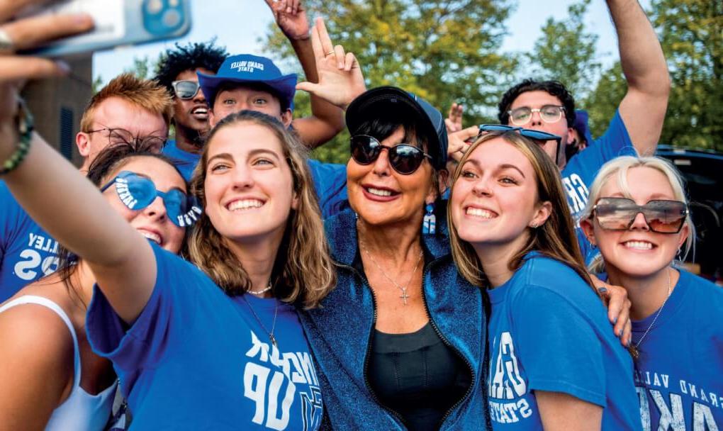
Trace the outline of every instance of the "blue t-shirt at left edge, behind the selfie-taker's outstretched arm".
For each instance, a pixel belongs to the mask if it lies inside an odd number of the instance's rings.
[[[58,269],[58,242],[0,181],[0,302]]]

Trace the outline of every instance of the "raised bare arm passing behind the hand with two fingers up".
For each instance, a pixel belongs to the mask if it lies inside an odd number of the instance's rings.
[[[301,68],[309,82],[318,83],[317,62],[309,35],[309,21],[300,0],[266,0],[276,24],[296,52]],[[344,115],[340,108],[312,94],[312,115],[294,119],[294,129],[309,148],[328,142],[344,128]]]

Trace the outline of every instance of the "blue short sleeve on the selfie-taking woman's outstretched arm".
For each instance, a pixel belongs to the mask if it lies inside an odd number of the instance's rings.
[[[153,244],[158,274],[153,294],[128,327],[96,285],[86,330],[93,351],[125,372],[154,367],[192,328],[197,292],[210,280],[193,265]],[[204,280],[205,278],[205,280]]]

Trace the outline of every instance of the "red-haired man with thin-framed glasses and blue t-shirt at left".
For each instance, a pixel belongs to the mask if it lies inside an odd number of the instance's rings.
[[[100,150],[118,142],[155,142],[160,153],[170,119],[171,98],[166,89],[121,74],[93,95],[80,119],[81,131],[75,137],[83,158],[80,170],[87,171]],[[57,251],[58,242],[30,218],[0,181],[0,302],[54,273]]]

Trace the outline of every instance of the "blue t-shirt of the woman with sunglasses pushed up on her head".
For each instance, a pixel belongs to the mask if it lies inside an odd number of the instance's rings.
[[[572,268],[534,253],[488,294],[493,429],[542,430],[534,391],[602,406],[602,430],[640,429],[633,359]]]

